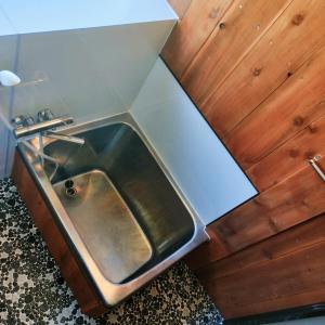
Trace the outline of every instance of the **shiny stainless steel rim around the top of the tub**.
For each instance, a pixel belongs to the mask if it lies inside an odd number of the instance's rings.
[[[68,244],[72,246],[74,252],[76,252],[78,260],[82,263],[83,268],[87,271],[87,275],[94,285],[94,288],[99,296],[101,297],[103,303],[107,307],[116,306],[121,302],[123,299],[129,297],[131,294],[143,287],[150,281],[155,278],[161,272],[171,266],[174,262],[184,257],[187,252],[203,244],[204,242],[209,239],[209,236],[206,232],[206,226],[200,221],[196,211],[192,208],[191,203],[185,198],[181,188],[170,174],[170,172],[165,167],[162,160],[157,155],[152,143],[146,139],[144,133],[141,131],[134,119],[129,113],[118,114],[112,117],[101,118],[93,121],[82,122],[76,126],[72,126],[67,129],[64,129],[60,132],[66,134],[76,134],[89,130],[94,130],[98,128],[106,127],[115,123],[123,123],[129,126],[142,140],[146,148],[150,151],[165,177],[169,181],[169,183],[174,188],[177,195],[183,203],[184,207],[187,209],[193,224],[194,231],[191,239],[185,243],[182,247],[177,249],[173,253],[165,258],[161,262],[153,266],[152,269],[145,271],[143,274],[138,277],[122,284],[114,284],[102,274],[99,265],[90,256],[86,245],[82,243],[75,225],[73,224],[69,216],[67,214],[63,204],[57,197],[53,185],[51,184],[48,176],[46,174],[43,167],[41,166],[39,159],[36,157],[34,153],[31,153],[26,146],[23,144],[18,144],[18,151],[31,173],[37,186],[42,192],[44,199],[51,210],[53,211],[53,218],[58,222],[60,229],[65,233],[65,237],[68,239]],[[35,146],[38,146],[37,139],[30,140]],[[44,141],[44,146],[49,145],[56,140],[47,139]]]

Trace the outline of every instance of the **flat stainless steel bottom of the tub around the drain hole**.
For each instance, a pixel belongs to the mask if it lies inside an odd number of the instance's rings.
[[[121,283],[143,266],[153,249],[107,176],[91,170],[53,185],[90,255],[103,275]],[[73,191],[69,193],[69,191]]]

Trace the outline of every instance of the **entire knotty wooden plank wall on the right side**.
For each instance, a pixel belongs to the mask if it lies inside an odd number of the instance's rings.
[[[320,223],[313,218],[325,211],[325,183],[308,159],[325,155],[325,1],[169,2],[181,20],[162,58],[260,191],[255,199],[209,225],[211,242],[190,257],[190,265],[227,318],[313,303],[314,297],[325,301],[324,289],[316,296],[286,300],[278,297],[288,295],[274,296],[277,290],[259,281],[270,280],[272,270],[289,283],[282,289],[290,290],[301,281],[292,273],[303,273],[310,292],[316,286],[314,266],[325,274],[325,252],[323,259],[318,246],[309,246],[308,255],[315,259],[307,259],[307,264],[291,263],[297,258],[284,264],[271,259],[270,269],[238,266],[249,253],[269,251],[287,232],[290,236],[299,230],[303,235],[313,225],[324,226],[324,216],[318,217]],[[324,160],[320,160],[323,170]],[[237,264],[231,269],[233,259]],[[260,263],[258,258],[255,263]],[[238,277],[229,276],[227,271],[221,276],[220,265],[227,265],[230,272],[238,268]],[[237,278],[243,281],[240,292]],[[249,287],[261,285],[264,291],[252,295]],[[249,307],[238,309],[239,301],[248,299],[245,295],[250,296]]]

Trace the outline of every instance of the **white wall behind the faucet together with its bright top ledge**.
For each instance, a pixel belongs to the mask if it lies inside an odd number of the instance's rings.
[[[22,79],[0,88],[0,177],[11,171],[12,117],[127,112],[176,22],[165,0],[0,0],[0,69]]]

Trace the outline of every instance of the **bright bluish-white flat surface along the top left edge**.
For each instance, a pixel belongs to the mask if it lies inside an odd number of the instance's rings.
[[[0,36],[178,20],[166,0],[0,0],[1,10]]]

